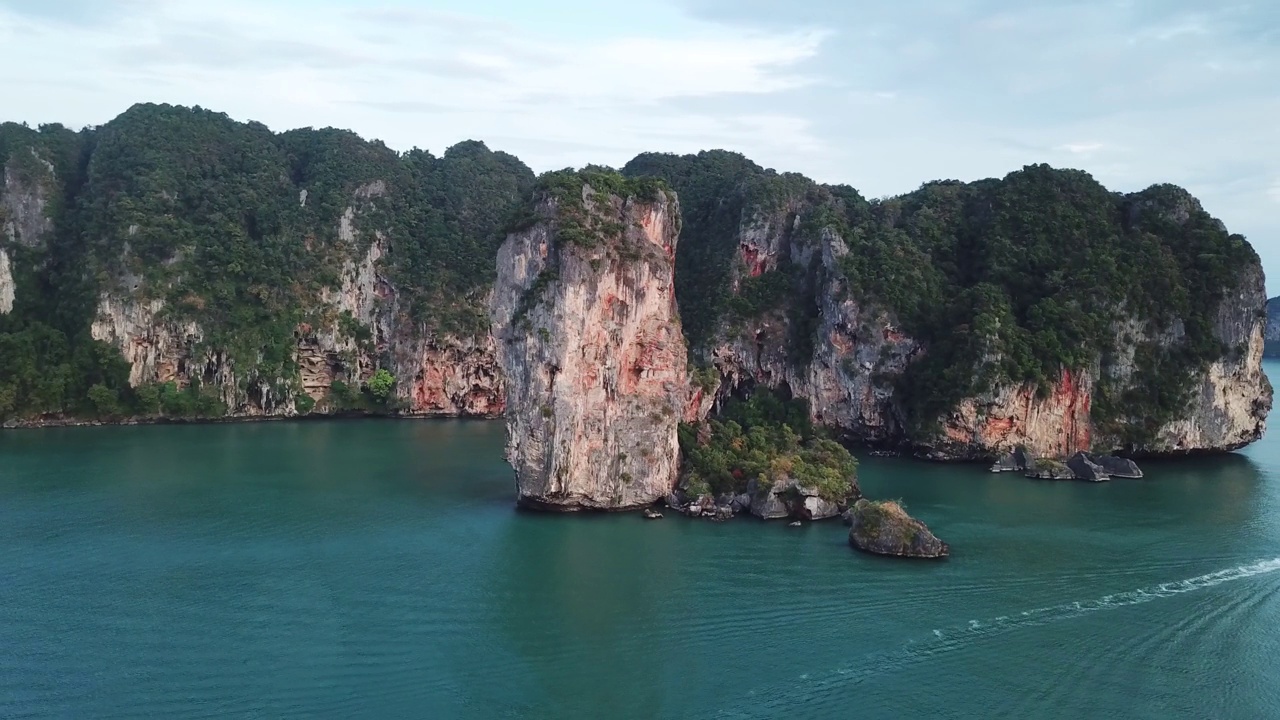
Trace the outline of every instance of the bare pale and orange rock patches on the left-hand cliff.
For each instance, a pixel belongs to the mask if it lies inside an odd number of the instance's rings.
[[[200,323],[168,314],[165,301],[154,297],[163,288],[140,287],[136,278],[119,278],[102,292],[92,336],[120,350],[132,386],[173,382],[184,388],[198,380],[230,418],[339,411],[334,383],[358,388],[379,366],[398,379],[394,406],[402,415],[500,415],[492,338],[431,333],[402,311],[384,272],[387,242],[381,232],[360,227],[372,224],[362,218],[384,192],[380,182],[361,186],[337,218],[334,237],[347,258],[338,286],[321,288],[294,329],[296,378],[264,377],[253,370],[253,359],[237,363],[206,338]],[[372,240],[361,250],[364,232]]]

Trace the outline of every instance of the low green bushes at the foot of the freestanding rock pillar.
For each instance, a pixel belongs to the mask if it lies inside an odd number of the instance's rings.
[[[680,451],[690,495],[737,495],[753,479],[765,489],[790,478],[842,501],[852,495],[858,474],[854,456],[817,433],[806,401],[768,389],[728,401],[719,419],[681,424]]]

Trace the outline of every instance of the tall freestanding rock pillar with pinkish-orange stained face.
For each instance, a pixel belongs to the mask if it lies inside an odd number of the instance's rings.
[[[672,277],[678,204],[584,183],[580,197],[543,197],[536,217],[502,246],[492,305],[520,503],[650,505],[676,486],[690,396]]]

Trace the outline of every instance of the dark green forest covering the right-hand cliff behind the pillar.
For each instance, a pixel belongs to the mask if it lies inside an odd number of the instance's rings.
[[[1106,364],[1124,319],[1137,318],[1148,337],[1180,322],[1185,336],[1171,347],[1135,338],[1138,382],[1121,389],[1103,378],[1092,407],[1120,442],[1149,439],[1185,407],[1207,364],[1231,350],[1215,337],[1213,313],[1258,265],[1244,238],[1181,188],[1119,195],[1087,173],[1047,165],[873,202],[723,151],[641,155],[623,172],[663,177],[681,196],[676,287],[690,347],[703,356],[742,319],[769,315],[787,320],[792,360],[808,361],[815,281],[828,270],[782,259],[753,277],[760,268],[739,243],[762,218],[783,251],[810,256],[824,232],[836,232],[849,252],[831,272],[846,296],[887,310],[927,348],[896,379],[916,439],[931,438],[963,397],[998,383],[1047,392],[1064,370]]]

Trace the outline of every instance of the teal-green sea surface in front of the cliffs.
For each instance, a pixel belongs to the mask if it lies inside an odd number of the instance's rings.
[[[1100,486],[864,457],[942,562],[517,512],[503,433],[0,433],[0,717],[1280,717],[1280,430]]]

